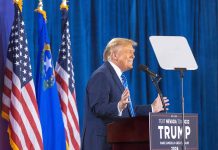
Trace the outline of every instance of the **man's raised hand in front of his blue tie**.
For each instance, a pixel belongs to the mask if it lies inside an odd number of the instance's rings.
[[[119,111],[123,111],[127,107],[127,104],[130,102],[129,96],[129,90],[125,89],[121,95],[120,101],[118,102]]]

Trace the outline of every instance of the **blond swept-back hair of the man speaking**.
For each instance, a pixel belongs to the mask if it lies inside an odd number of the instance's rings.
[[[108,61],[111,55],[111,50],[113,50],[115,47],[118,46],[125,46],[131,44],[132,46],[137,46],[137,43],[133,40],[130,39],[125,39],[125,38],[113,38],[110,40],[107,44],[107,46],[104,49],[103,53],[103,61]]]

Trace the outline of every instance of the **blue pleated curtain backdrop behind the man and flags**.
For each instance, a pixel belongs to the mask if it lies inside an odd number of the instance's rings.
[[[23,17],[34,74],[37,54],[35,0],[23,0]],[[61,35],[61,0],[44,1],[54,62]],[[157,96],[139,64],[161,74],[161,89],[170,99],[170,112],[181,112],[179,73],[162,70],[149,42],[150,35],[185,36],[198,63],[198,70],[185,72],[185,112],[199,115],[200,150],[218,147],[218,1],[217,0],[70,0],[70,33],[76,79],[77,105],[82,130],[84,95],[91,73],[102,64],[102,53],[114,37],[135,40],[134,69],[128,72],[134,104],[151,103]],[[13,21],[12,0],[0,0],[0,88]],[[186,61],[186,60],[184,60]],[[8,149],[6,122],[0,120],[0,149]],[[196,137],[197,138],[197,137]]]

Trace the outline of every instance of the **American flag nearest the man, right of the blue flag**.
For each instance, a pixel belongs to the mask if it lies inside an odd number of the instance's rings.
[[[62,9],[62,43],[55,67],[66,140],[70,150],[80,149],[79,118],[67,10]]]

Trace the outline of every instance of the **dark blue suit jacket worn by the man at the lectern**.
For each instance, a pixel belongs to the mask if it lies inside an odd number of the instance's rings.
[[[118,117],[117,104],[124,87],[109,62],[105,62],[91,76],[86,88],[85,121],[82,150],[110,150],[106,126]],[[148,115],[150,105],[135,107],[136,115]],[[128,107],[122,117],[130,117]]]

